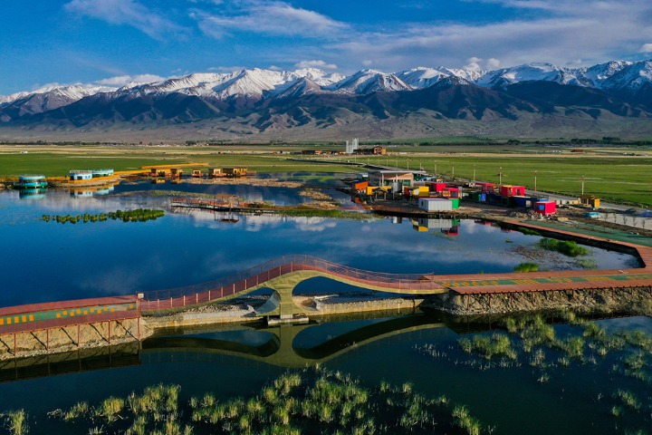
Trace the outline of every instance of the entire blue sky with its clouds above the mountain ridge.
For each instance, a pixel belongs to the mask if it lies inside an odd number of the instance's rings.
[[[652,58],[649,0],[5,0],[0,95],[315,66],[584,66]]]

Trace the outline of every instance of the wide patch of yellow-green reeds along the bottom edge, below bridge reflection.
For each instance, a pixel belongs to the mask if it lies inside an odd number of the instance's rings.
[[[464,406],[455,406],[446,396],[428,398],[409,382],[366,387],[349,374],[319,365],[286,372],[248,399],[223,401],[207,392],[182,403],[179,393],[178,385],[152,385],[126,398],[112,396],[96,406],[81,401],[49,415],[64,423],[86,422],[89,433],[126,435],[287,435],[318,433],[315,428],[319,433],[361,435],[441,430],[475,434],[481,429]]]

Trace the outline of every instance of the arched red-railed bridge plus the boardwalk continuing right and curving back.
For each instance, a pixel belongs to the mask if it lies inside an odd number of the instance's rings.
[[[536,229],[564,239],[579,239],[583,243],[610,246],[638,256],[640,267],[607,270],[563,270],[528,273],[434,275],[387,274],[342,266],[315,256],[281,256],[239,274],[173,290],[143,294],[139,310],[147,314],[187,305],[206,304],[246,295],[263,287],[273,289],[270,300],[261,306],[258,315],[306,314],[308,307],[292,301],[292,290],[306,279],[322,276],[361,288],[400,295],[436,295],[452,292],[465,297],[473,295],[560,292],[613,288],[644,287],[652,291],[652,247],[583,236],[560,229],[518,223],[519,227]]]

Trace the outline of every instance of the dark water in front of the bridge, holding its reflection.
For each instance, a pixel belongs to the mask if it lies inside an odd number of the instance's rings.
[[[628,329],[635,324],[643,324],[648,331],[652,328],[650,319],[640,317],[600,323],[608,328],[623,324],[628,324]],[[466,333],[467,328],[476,332]],[[492,329],[488,324],[455,324],[436,314],[416,314],[292,326],[283,331],[235,327],[158,337],[143,343],[143,350],[125,367],[6,382],[14,374],[9,364],[0,371],[5,380],[0,383],[0,409],[29,410],[37,423],[32,433],[84,434],[88,432],[82,425],[46,419],[46,412],[82,400],[97,404],[111,395],[125,397],[158,382],[179,384],[182,402],[206,391],[214,392],[219,400],[251,397],[287,370],[274,353],[282,352],[280,348],[288,343],[273,338],[289,336],[297,360],[286,360],[291,367],[298,362],[321,362],[332,371],[350,373],[369,387],[382,380],[395,385],[413,382],[415,391],[427,397],[445,394],[452,401],[465,403],[485,427],[494,427],[494,433],[609,434],[649,428],[649,385],[614,372],[619,356],[609,354],[597,362],[572,361],[569,367],[541,371],[528,363],[527,355],[519,357],[520,365],[501,368],[497,361],[460,351],[460,337],[495,333],[495,329],[483,332]],[[555,330],[561,336],[581,334],[577,327],[567,325],[557,325]],[[423,346],[435,346],[442,355],[419,352]],[[548,361],[554,362],[555,353],[546,352]],[[587,356],[590,353],[587,347]],[[56,368],[53,364],[52,370]],[[41,374],[44,372],[42,366]],[[542,372],[549,381],[538,382]],[[614,419],[610,410],[619,402],[613,394],[620,389],[634,392],[642,411],[626,409]]]

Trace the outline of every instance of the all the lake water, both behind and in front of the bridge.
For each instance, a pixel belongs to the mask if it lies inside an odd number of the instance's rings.
[[[359,221],[225,216],[187,210],[172,213],[168,198],[120,195],[150,187],[154,185],[116,187],[106,195],[86,198],[74,198],[68,192],[50,191],[40,198],[0,192],[0,304],[190,285],[285,254],[310,254],[347,266],[396,273],[505,272],[526,261],[549,269],[579,267],[575,260],[534,247],[540,237],[504,232],[473,220],[413,223],[390,218]],[[254,195],[249,187],[232,188],[230,194]],[[293,191],[256,194],[264,200],[302,200],[294,198]],[[168,213],[145,223],[61,225],[41,220],[43,214],[76,215],[118,208],[166,208]],[[227,223],[225,219],[237,221]],[[636,264],[631,256],[596,248],[590,248],[590,259],[600,268]],[[303,283],[299,290],[346,289],[315,279]],[[612,331],[652,330],[647,318],[604,324]],[[127,358],[127,366],[4,382],[0,384],[0,410],[30,411],[36,423],[32,433],[87,433],[81,427],[46,419],[45,412],[81,400],[96,403],[110,395],[126,396],[158,382],[181,385],[183,401],[206,391],[223,399],[250,396],[287,367],[322,362],[332,370],[350,372],[363,384],[378,384],[382,379],[395,384],[413,382],[416,391],[428,396],[446,394],[466,403],[484,424],[496,427],[495,433],[624,433],[646,424],[649,428],[648,411],[625,413],[619,420],[609,414],[613,391],[618,388],[637,391],[641,397],[649,395],[647,383],[612,371],[616,360],[571,364],[568,369],[551,371],[547,383],[537,382],[539,373],[525,360],[510,369],[478,368],[456,343],[462,335],[472,337],[490,328],[493,326],[455,324],[436,314],[420,314],[342,320],[283,331],[231,327],[158,337],[144,343],[141,353]],[[556,329],[580,334],[566,325]],[[419,352],[424,345],[435,345],[446,357]],[[296,357],[292,361],[275,359],[283,346],[293,347]],[[120,361],[114,355],[112,362],[120,365]],[[11,364],[0,368],[5,381],[18,372]],[[35,397],[39,399],[35,401]],[[647,398],[646,406],[652,404],[648,402]]]

